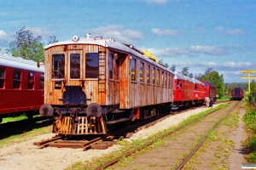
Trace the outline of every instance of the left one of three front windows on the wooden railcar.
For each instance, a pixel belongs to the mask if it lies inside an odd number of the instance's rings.
[[[53,54],[52,55],[52,78],[64,79],[65,76],[65,55]]]

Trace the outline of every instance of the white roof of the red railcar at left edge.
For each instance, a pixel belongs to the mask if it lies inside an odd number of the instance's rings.
[[[0,52],[0,66],[1,65],[27,71],[44,72],[44,64],[42,63],[40,63],[40,67],[38,68],[38,63],[33,60],[21,59],[20,57],[14,57]]]

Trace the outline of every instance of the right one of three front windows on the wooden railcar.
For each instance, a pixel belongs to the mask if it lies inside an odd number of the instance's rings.
[[[85,78],[99,77],[99,54],[87,53],[85,54]]]

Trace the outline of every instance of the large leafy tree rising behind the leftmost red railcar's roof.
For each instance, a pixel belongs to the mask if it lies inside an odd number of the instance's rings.
[[[16,32],[15,41],[9,43],[10,52],[15,57],[23,59],[32,59],[37,62],[44,62],[44,43],[42,37],[33,37],[32,31],[22,27]]]

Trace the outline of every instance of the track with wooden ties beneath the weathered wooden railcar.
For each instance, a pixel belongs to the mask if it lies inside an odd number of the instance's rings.
[[[224,103],[226,101],[218,102]],[[201,106],[205,107],[205,106]],[[119,130],[114,130],[107,135],[102,135],[100,137],[93,137],[93,136],[55,136],[52,139],[44,139],[39,142],[34,142],[33,144],[38,145],[38,148],[44,147],[58,147],[58,148],[81,148],[84,150],[88,149],[99,149],[105,150],[108,147],[115,144],[118,140],[122,139],[130,139],[133,133],[137,133],[139,130],[143,128],[147,128],[153,126],[157,122],[161,122],[169,116],[174,116],[176,114],[183,113],[183,111],[194,110],[197,107],[191,107],[189,109],[183,109],[179,111],[171,111],[161,114],[160,116],[151,117],[143,122],[138,122],[136,124],[128,125],[127,127],[122,127]]]

